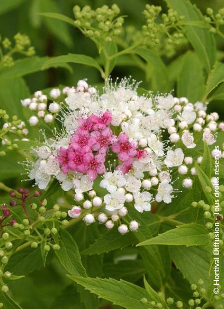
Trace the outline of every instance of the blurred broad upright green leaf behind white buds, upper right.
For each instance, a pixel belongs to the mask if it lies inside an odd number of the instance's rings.
[[[188,51],[182,58],[183,66],[177,81],[177,96],[190,102],[201,100],[205,91],[203,66],[196,53]]]

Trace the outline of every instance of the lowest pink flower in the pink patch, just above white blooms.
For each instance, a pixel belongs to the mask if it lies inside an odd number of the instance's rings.
[[[99,152],[97,155],[90,155],[90,160],[88,163],[87,176],[94,180],[97,178],[98,174],[103,174],[106,171],[106,167],[104,165],[105,155],[104,152]]]

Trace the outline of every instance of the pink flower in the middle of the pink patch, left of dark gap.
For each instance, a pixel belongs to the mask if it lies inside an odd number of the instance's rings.
[[[92,149],[98,151],[99,149],[106,148],[112,144],[112,130],[110,128],[105,128],[101,132],[94,131],[91,136],[95,139],[96,143],[93,145]]]

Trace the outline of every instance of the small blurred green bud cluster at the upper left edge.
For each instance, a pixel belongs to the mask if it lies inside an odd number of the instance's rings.
[[[6,54],[2,56],[2,64],[7,67],[11,67],[14,64],[12,55],[15,53],[20,53],[25,56],[33,56],[35,54],[35,49],[31,46],[30,39],[27,35],[16,33],[13,37],[14,46],[9,38],[4,38],[1,42],[2,47],[7,51]]]

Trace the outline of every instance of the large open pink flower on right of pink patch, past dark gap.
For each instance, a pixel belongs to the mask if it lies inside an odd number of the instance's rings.
[[[112,152],[118,153],[118,158],[125,162],[137,154],[137,147],[128,141],[128,136],[125,133],[120,133],[117,142],[112,145]]]

